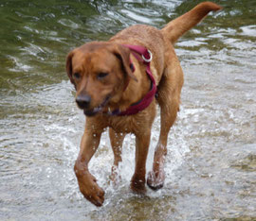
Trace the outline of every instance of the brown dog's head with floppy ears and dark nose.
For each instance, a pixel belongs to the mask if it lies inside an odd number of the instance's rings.
[[[110,102],[119,102],[130,78],[130,50],[107,42],[90,42],[71,51],[66,72],[76,88],[76,102],[87,116],[101,112]]]

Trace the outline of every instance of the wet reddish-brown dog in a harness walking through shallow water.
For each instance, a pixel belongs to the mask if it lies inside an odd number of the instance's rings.
[[[69,53],[66,71],[77,91],[76,102],[87,116],[74,170],[82,195],[96,206],[102,205],[104,192],[89,173],[88,163],[106,127],[114,152],[113,180],[121,161],[124,136],[136,135],[136,167],[131,189],[145,193],[145,165],[156,103],[161,109],[161,130],[147,184],[154,190],[163,186],[167,138],[179,110],[183,85],[174,42],[211,10],[218,9],[214,3],[201,3],[161,30],[130,26],[108,42],[89,42]]]

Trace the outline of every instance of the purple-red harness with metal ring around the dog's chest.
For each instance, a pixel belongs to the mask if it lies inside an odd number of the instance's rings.
[[[136,114],[137,112],[146,109],[151,104],[156,93],[155,79],[150,70],[150,62],[152,60],[151,51],[139,45],[123,44],[123,46],[128,47],[132,51],[133,55],[139,61],[143,61],[143,63],[146,65],[146,73],[151,80],[151,89],[140,101],[138,101],[135,104],[132,104],[127,110],[124,110],[124,111],[114,110],[112,112],[108,112],[109,115],[127,116],[127,115]],[[132,61],[130,66],[132,71],[134,72],[135,68]]]

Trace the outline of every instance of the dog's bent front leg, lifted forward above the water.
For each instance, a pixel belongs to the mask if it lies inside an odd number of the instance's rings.
[[[78,179],[82,195],[96,206],[104,201],[104,191],[97,184],[97,180],[89,173],[88,163],[96,152],[101,140],[101,132],[85,128],[82,135],[81,149],[74,170]]]

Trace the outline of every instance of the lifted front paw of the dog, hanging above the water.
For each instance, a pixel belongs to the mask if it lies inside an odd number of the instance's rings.
[[[97,207],[101,207],[104,202],[104,191],[97,184],[97,180],[89,172],[78,178],[79,188],[82,195]]]

